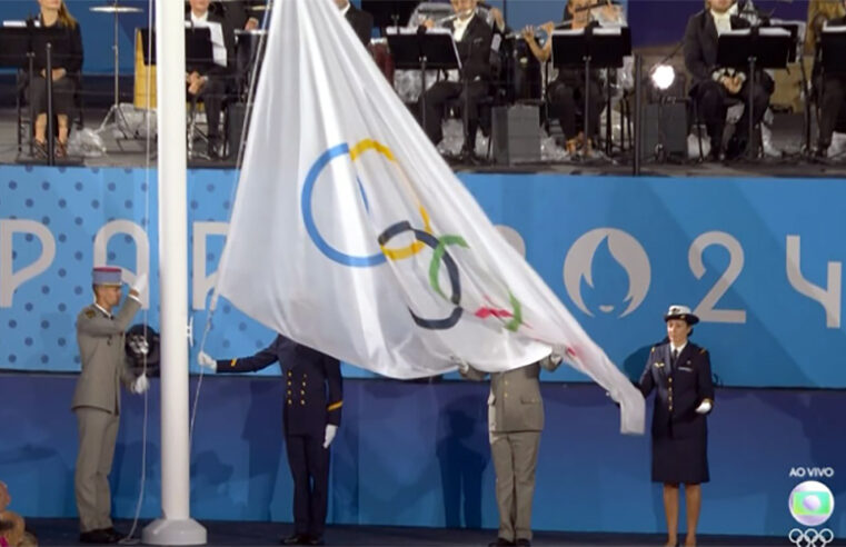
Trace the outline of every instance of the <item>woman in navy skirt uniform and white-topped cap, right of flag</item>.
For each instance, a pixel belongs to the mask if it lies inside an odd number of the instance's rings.
[[[688,341],[699,319],[687,306],[670,306],[664,316],[666,344],[649,354],[639,387],[644,398],[656,389],[653,412],[653,481],[664,484],[667,544],[675,546],[678,488],[685,485],[687,536],[696,545],[701,505],[700,484],[709,480],[708,430],[705,416],[714,406],[708,351]]]

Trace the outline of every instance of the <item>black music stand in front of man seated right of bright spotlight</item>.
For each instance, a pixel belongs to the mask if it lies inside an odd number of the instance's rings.
[[[790,32],[782,28],[736,29],[723,32],[717,39],[717,64],[745,70],[749,92],[746,107],[749,112],[749,139],[755,130],[753,116],[755,69],[784,69],[790,56]],[[750,141],[752,142],[752,141]],[[747,145],[747,156],[753,157],[753,147]]]

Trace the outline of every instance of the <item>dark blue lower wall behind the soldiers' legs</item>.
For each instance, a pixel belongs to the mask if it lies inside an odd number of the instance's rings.
[[[76,421],[68,410],[74,381],[0,377],[0,479],[24,515],[76,515]],[[143,518],[159,511],[158,387],[153,380],[149,394]],[[595,386],[545,384],[543,395],[535,529],[664,530],[660,487],[649,483],[648,437],[618,435],[617,409]],[[486,396],[486,384],[347,380],[329,521],[496,528]],[[846,495],[843,391],[718,389],[716,399],[701,533],[786,535],[795,526],[788,495],[803,480],[789,477],[794,467],[832,467],[834,477],[823,481],[835,498]],[[203,379],[191,457],[196,518],[291,521],[281,400],[281,382],[272,378]],[[128,395],[123,401],[111,483],[115,515],[131,517],[143,401]],[[846,534],[842,501],[826,526]]]

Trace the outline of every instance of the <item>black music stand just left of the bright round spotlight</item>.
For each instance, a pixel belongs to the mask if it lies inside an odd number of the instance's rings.
[[[553,66],[585,70],[585,138],[590,139],[590,69],[621,68],[623,58],[631,54],[631,31],[628,27],[593,27],[553,32]],[[608,78],[606,78],[606,81]],[[608,112],[610,119],[610,112]],[[609,135],[606,140],[610,139]]]

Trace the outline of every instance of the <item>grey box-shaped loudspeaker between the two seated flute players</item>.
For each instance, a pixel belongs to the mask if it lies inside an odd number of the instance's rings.
[[[496,107],[490,138],[497,163],[540,161],[540,113],[538,107]]]

